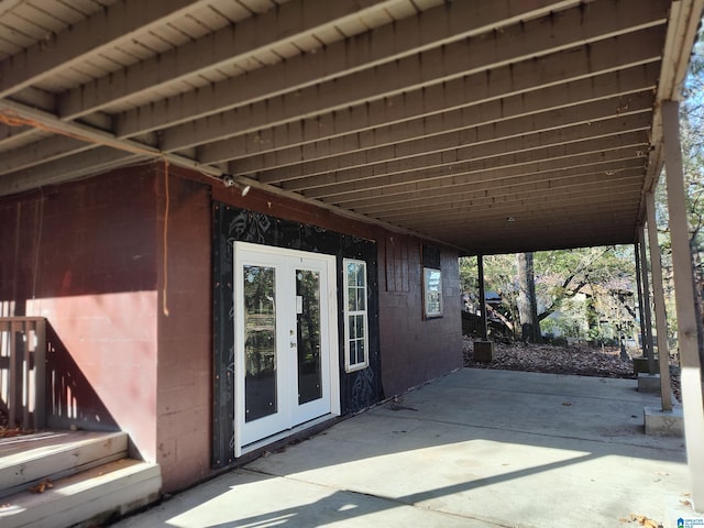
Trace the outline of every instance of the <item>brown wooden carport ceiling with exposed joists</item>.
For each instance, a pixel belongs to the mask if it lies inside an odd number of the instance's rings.
[[[630,243],[703,0],[0,0],[0,195],[166,158],[468,253]]]

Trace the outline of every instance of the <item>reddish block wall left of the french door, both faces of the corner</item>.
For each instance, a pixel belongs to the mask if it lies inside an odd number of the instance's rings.
[[[161,164],[0,202],[2,315],[47,317],[70,387],[50,425],[128,431],[167,492],[209,474],[212,413],[210,189],[168,175],[168,212]]]

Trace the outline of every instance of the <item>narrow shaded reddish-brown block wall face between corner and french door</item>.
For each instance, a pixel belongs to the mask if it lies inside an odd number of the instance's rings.
[[[170,492],[210,474],[212,286],[210,189],[176,168],[167,175],[168,211],[160,166],[156,460]]]

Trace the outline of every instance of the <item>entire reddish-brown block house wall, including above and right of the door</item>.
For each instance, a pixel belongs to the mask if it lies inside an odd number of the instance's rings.
[[[461,365],[454,251],[441,251],[444,317],[424,320],[419,239],[256,189],[242,197],[175,167],[167,195],[164,168],[125,168],[0,201],[0,310],[48,317],[64,371],[92,391],[80,395],[82,418],[130,432],[140,454],[162,465],[165,491],[211,471],[211,194],[376,241],[386,396]],[[389,238],[397,245],[387,254]]]

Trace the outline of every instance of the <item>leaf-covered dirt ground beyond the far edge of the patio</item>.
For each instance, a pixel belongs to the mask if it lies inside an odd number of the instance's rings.
[[[618,348],[594,349],[587,345],[556,346],[530,343],[496,343],[494,361],[474,361],[474,342],[464,337],[464,366],[504,371],[544,372],[575,376],[634,378],[634,363],[620,359]],[[670,367],[672,391],[680,400],[679,369]]]

